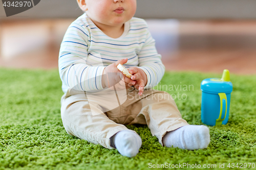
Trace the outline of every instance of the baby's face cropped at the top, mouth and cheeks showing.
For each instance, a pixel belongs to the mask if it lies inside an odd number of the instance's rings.
[[[94,21],[108,26],[122,25],[136,12],[136,0],[85,0],[86,13]],[[123,10],[117,10],[117,8]]]

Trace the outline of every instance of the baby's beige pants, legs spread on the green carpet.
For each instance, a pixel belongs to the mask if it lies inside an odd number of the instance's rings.
[[[61,118],[67,133],[114,149],[110,138],[121,130],[128,130],[124,125],[147,125],[161,145],[166,132],[188,125],[169,93],[149,89],[139,96],[134,86],[126,91],[127,100],[123,104],[96,115],[91,112],[86,94],[63,94]],[[96,107],[101,108],[99,105]]]

